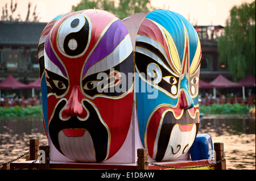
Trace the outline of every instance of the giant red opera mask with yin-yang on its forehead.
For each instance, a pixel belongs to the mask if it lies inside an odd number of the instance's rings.
[[[39,64],[44,124],[55,148],[73,161],[111,158],[126,139],[133,104],[132,84],[115,89],[134,71],[122,21],[101,10],[58,16],[40,37]]]

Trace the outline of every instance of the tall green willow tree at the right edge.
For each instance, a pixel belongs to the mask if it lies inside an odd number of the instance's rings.
[[[225,36],[218,38],[219,61],[228,65],[233,81],[255,77],[255,1],[234,6],[226,20]]]

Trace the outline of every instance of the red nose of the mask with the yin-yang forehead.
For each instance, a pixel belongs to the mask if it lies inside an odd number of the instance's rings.
[[[67,116],[80,116],[84,108],[81,104],[82,92],[79,86],[71,86],[71,94],[68,98],[68,103],[64,108],[64,113]]]

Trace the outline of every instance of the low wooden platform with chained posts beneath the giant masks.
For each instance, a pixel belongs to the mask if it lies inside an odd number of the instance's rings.
[[[38,150],[43,150],[44,160],[40,160]],[[30,161],[11,162],[5,165],[7,170],[225,170],[226,161],[224,158],[224,144],[214,143],[216,152],[216,163],[208,159],[192,161],[191,159],[180,159],[168,162],[148,162],[147,149],[137,150],[137,163],[80,163],[80,162],[56,162],[50,161],[49,146],[39,146],[37,139],[30,140]],[[43,163],[42,163],[43,162]]]

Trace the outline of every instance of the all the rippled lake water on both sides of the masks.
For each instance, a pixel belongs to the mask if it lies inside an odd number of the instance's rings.
[[[199,133],[209,133],[213,142],[224,143],[227,169],[255,170],[255,117],[204,116],[200,119]],[[48,144],[42,119],[0,118],[0,163],[26,153],[31,138],[39,138],[40,145]]]

